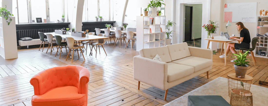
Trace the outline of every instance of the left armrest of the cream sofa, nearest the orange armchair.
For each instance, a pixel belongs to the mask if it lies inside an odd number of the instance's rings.
[[[168,81],[168,64],[149,58],[134,56],[133,58],[134,79],[164,89]]]

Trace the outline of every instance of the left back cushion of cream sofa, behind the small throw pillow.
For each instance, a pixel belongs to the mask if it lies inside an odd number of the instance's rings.
[[[140,56],[150,59],[153,59],[155,55],[158,54],[161,57],[162,62],[171,62],[167,46],[162,46],[158,48],[140,49],[139,53]]]

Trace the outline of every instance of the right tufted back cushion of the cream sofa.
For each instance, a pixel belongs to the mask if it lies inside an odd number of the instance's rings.
[[[191,56],[191,53],[189,51],[189,48],[186,42],[168,45],[168,50],[169,50],[171,61]]]

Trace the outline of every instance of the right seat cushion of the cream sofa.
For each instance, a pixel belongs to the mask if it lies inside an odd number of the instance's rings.
[[[174,60],[172,62],[177,63],[177,64],[192,66],[195,72],[212,65],[212,60],[207,59],[207,58],[194,57],[194,56],[181,58],[179,60]]]

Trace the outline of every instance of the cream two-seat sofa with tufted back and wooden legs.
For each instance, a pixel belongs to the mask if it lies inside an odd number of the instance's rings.
[[[139,50],[133,58],[134,79],[165,90],[183,83],[212,68],[212,50],[188,46],[186,42]],[[152,60],[159,55],[162,62]]]

